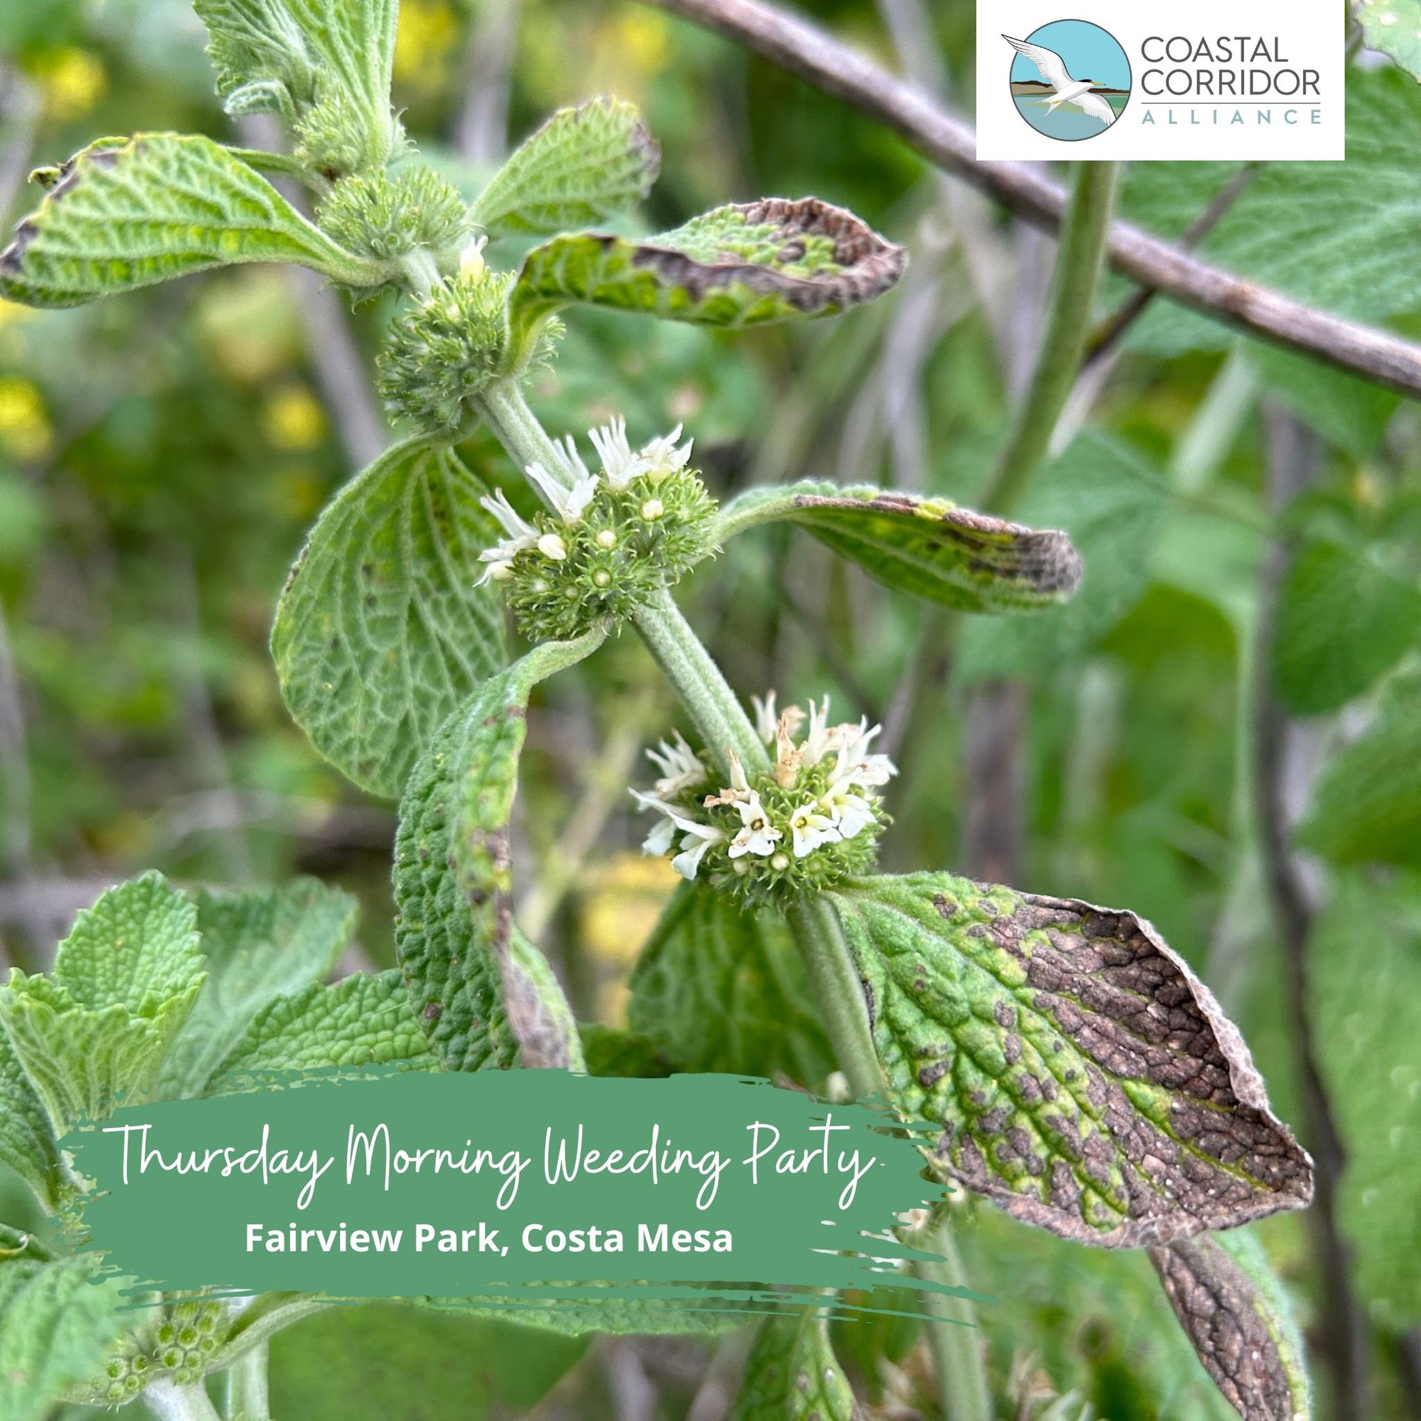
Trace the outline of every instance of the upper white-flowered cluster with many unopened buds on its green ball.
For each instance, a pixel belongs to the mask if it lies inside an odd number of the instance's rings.
[[[691,441],[678,448],[679,425],[635,452],[621,419],[590,433],[598,473],[588,472],[571,436],[558,446],[571,485],[541,463],[529,466],[553,512],[524,519],[502,490],[483,500],[507,536],[482,554],[480,581],[503,585],[533,641],[621,621],[715,550],[715,500],[686,468]]]

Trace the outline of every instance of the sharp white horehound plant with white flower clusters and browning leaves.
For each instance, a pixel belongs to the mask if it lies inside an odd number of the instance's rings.
[[[529,375],[556,358],[560,311],[722,330],[828,317],[892,288],[904,252],[814,198],[725,206],[648,239],[584,230],[632,207],[658,169],[635,111],[611,99],[554,115],[468,203],[391,109],[395,0],[196,7],[229,111],[277,114],[290,152],[180,134],[102,139],[36,175],[48,190],[0,254],[0,291],[63,307],[293,261],[355,300],[404,294],[378,381],[409,433],[327,507],[271,638],[313,745],[401,800],[401,971],[318,985],[352,917],[318,885],[196,904],[156,875],[114,890],[51,976],[3,989],[0,1158],[72,1216],[84,1184],[54,1140],[118,1096],[369,1060],[584,1069],[558,983],[512,912],[509,814],[534,685],[630,627],[696,742],[671,732],[649,752],[659,777],[634,789],[655,816],[648,851],[688,880],[634,975],[634,1026],[681,1069],[783,1071],[823,1090],[837,1067],[853,1093],[934,1123],[925,1160],[941,1179],[1080,1243],[1150,1248],[1233,1405],[1302,1415],[1306,1384],[1273,1293],[1209,1235],[1306,1205],[1310,1162],[1208,989],[1130,912],[944,871],[875,874],[898,773],[874,750],[877,728],[831,723],[827,698],[779,710],[773,692],[752,719],[671,594],[730,537],[789,522],[894,591],[1029,614],[1081,577],[1066,536],[817,482],[718,509],[681,429],[632,448],[612,421],[593,432],[588,463],[524,402]],[[313,216],[267,172],[303,186]],[[504,239],[526,237],[541,240],[502,269]],[[490,490],[460,462],[455,446],[479,422],[524,487]],[[512,664],[500,601],[533,644]],[[770,972],[786,936],[797,965]],[[705,998],[715,976],[696,971],[723,952],[779,983],[762,1003],[757,1059],[698,1034],[730,1010]],[[102,1289],[78,1289],[91,1262],[6,1238],[0,1354],[28,1346],[24,1327],[45,1334],[55,1309],[88,1309],[81,1360],[26,1360],[27,1376],[53,1363],[55,1394],[77,1401],[142,1395],[161,1417],[207,1417],[200,1377],[225,1368],[229,1417],[264,1417],[264,1341],[320,1306],[171,1302],[135,1329],[94,1300]],[[557,1309],[543,1320],[597,1326]],[[674,1309],[618,1324],[693,1326]],[[969,1368],[980,1366],[972,1350],[961,1353]],[[851,1414],[821,1322],[763,1324],[749,1367],[742,1417]],[[800,1374],[823,1388],[810,1395]],[[986,1421],[980,1387],[976,1403],[971,1387],[958,1394],[969,1400],[953,1421]]]

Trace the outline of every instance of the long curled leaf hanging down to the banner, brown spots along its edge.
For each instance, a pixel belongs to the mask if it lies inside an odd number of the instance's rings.
[[[415,1013],[452,1070],[581,1067],[561,989],[513,922],[509,814],[533,686],[605,637],[544,642],[489,681],[435,736],[401,801],[395,945]]]

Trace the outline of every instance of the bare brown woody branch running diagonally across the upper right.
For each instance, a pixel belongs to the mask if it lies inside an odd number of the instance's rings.
[[[1016,216],[1047,232],[1060,226],[1067,200],[1063,188],[1020,163],[979,163],[976,138],[966,124],[817,26],[763,0],[651,3],[737,40],[863,109]],[[1127,222],[1111,225],[1107,253],[1117,271],[1181,306],[1421,398],[1421,347],[1232,276]]]

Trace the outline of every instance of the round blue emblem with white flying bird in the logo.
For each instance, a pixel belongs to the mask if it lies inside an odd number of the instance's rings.
[[[1130,102],[1130,60],[1120,41],[1088,20],[1052,20],[1012,55],[1012,101],[1047,138],[1074,144],[1103,134]]]

